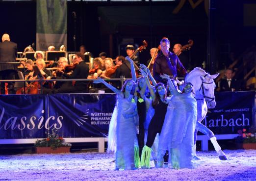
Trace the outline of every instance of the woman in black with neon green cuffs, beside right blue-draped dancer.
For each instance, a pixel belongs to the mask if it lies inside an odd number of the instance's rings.
[[[161,132],[168,101],[166,98],[166,90],[165,90],[164,84],[162,83],[156,84],[155,86],[156,91],[154,92],[154,90],[150,85],[147,73],[141,70],[141,74],[145,78],[147,86],[150,90],[152,99],[154,100],[153,107],[155,112],[149,124],[147,142],[146,142],[146,145],[143,147],[142,155],[141,155],[141,166],[150,168],[150,157],[151,157],[151,151],[152,151],[151,147],[154,143],[156,134],[157,133],[160,134]]]

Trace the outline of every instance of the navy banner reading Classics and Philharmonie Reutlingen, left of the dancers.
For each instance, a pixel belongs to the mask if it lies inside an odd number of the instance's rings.
[[[51,129],[65,138],[104,137],[115,94],[0,96],[0,139],[46,138]]]

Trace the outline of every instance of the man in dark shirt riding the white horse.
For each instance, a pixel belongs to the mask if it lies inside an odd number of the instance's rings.
[[[158,82],[167,83],[160,77],[161,74],[167,74],[174,78],[179,76],[185,77],[187,75],[186,69],[179,61],[177,55],[169,51],[170,41],[162,39],[160,46],[161,52],[157,55],[153,66],[154,79]]]

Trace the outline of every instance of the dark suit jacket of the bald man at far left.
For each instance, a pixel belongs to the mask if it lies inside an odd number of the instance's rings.
[[[17,44],[12,41],[3,41],[0,43],[0,62],[16,62]],[[16,64],[0,64],[2,70],[18,70]]]

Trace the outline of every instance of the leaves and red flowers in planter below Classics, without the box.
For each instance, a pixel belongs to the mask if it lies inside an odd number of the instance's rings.
[[[52,129],[51,133],[48,133],[48,137],[43,140],[37,140],[34,144],[35,147],[51,147],[56,149],[62,146],[71,146],[70,143],[66,143],[62,137],[59,137],[55,132],[56,130]]]

